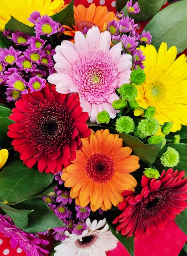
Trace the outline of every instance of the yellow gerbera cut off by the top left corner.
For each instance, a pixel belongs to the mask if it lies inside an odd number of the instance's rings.
[[[0,30],[4,30],[11,16],[31,26],[28,18],[33,11],[40,11],[41,16],[51,16],[60,11],[63,4],[64,0],[0,0]]]

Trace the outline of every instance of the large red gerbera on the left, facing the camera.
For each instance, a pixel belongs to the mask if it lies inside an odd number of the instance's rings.
[[[37,163],[40,172],[56,173],[76,157],[81,138],[90,135],[88,113],[82,112],[79,95],[59,94],[55,85],[22,95],[15,103],[8,136],[24,164]]]

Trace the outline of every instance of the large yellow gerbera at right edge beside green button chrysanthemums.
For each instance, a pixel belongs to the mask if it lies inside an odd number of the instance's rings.
[[[177,49],[162,43],[158,53],[153,45],[141,46],[145,55],[144,72],[146,80],[136,85],[136,100],[141,108],[155,106],[154,117],[163,125],[172,121],[172,132],[180,130],[181,124],[187,125],[187,57],[185,54],[176,59]],[[143,114],[137,109],[134,115]]]

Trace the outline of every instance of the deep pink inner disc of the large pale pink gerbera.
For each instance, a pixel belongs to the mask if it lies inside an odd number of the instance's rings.
[[[101,104],[118,87],[119,73],[108,53],[87,52],[73,64],[73,82],[86,101]]]

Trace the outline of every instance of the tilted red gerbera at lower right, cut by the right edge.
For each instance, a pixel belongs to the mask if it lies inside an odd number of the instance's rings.
[[[119,224],[117,231],[127,237],[134,233],[135,238],[142,238],[156,227],[162,230],[168,219],[174,220],[187,208],[187,179],[184,175],[184,171],[169,168],[163,170],[158,180],[143,175],[141,193],[123,191],[125,201],[118,205],[123,213],[113,221],[113,224]]]

